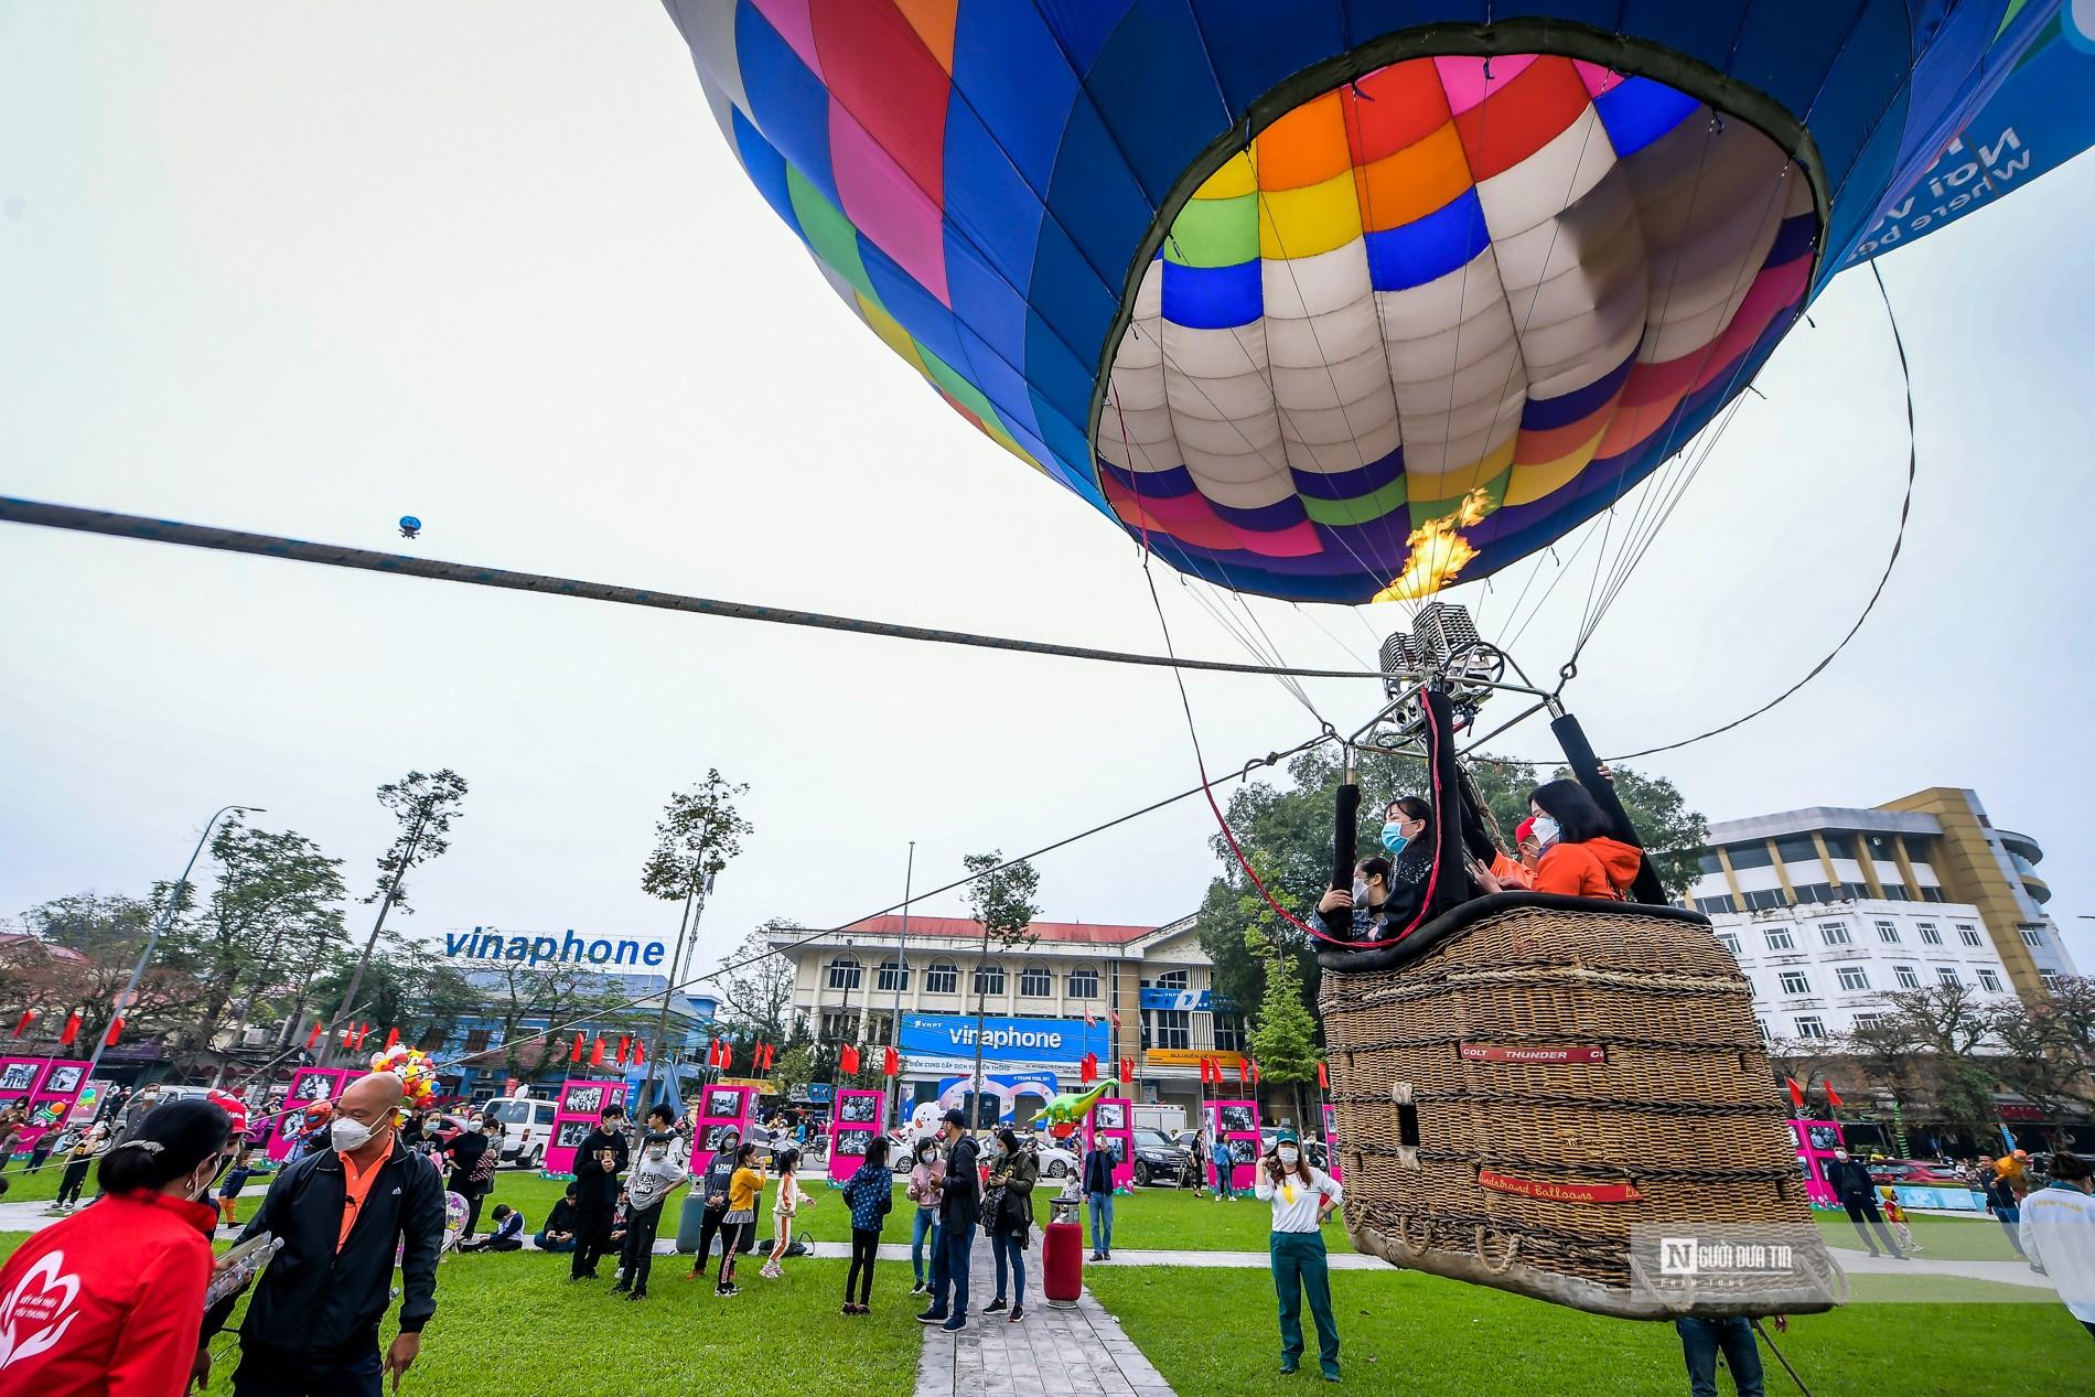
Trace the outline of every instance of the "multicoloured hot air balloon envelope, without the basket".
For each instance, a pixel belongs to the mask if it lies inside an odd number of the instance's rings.
[[[953,411],[1165,561],[1322,601],[1427,526],[1471,580],[1622,498],[2061,34],[2055,0],[668,10]]]

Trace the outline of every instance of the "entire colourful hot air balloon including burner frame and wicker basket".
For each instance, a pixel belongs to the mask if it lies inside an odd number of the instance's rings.
[[[1165,563],[1295,601],[1544,549],[1842,268],[2095,140],[2059,0],[666,4],[750,182],[953,411]],[[1458,607],[1416,622],[1347,746],[1429,760],[1425,922],[1320,953],[1355,1248],[1626,1317],[1837,1303],[1707,922],[1649,865],[1622,903],[1462,890],[1485,691],[1548,706],[1634,829],[1554,693]],[[1663,1236],[1724,1225],[1793,1257],[1655,1284]]]

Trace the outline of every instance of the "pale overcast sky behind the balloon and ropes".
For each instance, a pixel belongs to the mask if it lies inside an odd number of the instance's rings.
[[[882,348],[742,178],[649,4],[0,4],[0,490],[427,557],[1159,649],[1138,549]],[[1712,819],[1976,788],[2047,850],[2082,970],[2095,165],[1883,266],[1919,398],[1906,551],[1856,643],[1653,758]],[[1904,480],[1867,272],[1798,327],[1569,687],[1603,752],[1684,737],[1852,624]],[[1624,505],[1628,524],[1636,496]],[[406,545],[394,519],[421,515]],[[1609,547],[1617,551],[1619,534]],[[1554,674],[1601,547],[1536,563]],[[1565,561],[1567,559],[1567,561]],[[1163,574],[1182,651],[1247,658]],[[1456,593],[1504,637],[1523,563]],[[1552,582],[1561,584],[1550,589]],[[1389,607],[1251,601],[1349,666]],[[1529,607],[1523,607],[1525,620]],[[1177,792],[1161,670],[817,635],[0,526],[0,913],[174,878],[228,800],[367,890],[373,788],[471,781],[419,934],[668,936],[662,802],[719,767],[756,834],[704,953],[836,924]],[[1200,677],[1209,764],[1316,731]],[[1311,683],[1343,729],[1372,685]],[[1498,750],[1546,756],[1548,731]],[[1198,800],[1041,861],[1054,919],[1156,924],[1215,871]],[[957,894],[924,911],[957,913]],[[352,913],[362,919],[365,911]]]

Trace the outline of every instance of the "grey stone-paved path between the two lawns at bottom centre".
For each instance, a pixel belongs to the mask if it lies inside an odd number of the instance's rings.
[[[1173,1397],[1171,1384],[1089,1290],[1075,1309],[1048,1305],[1039,1288],[1041,1244],[1043,1234],[1035,1227],[1027,1248],[1027,1317],[1010,1324],[1010,1315],[983,1313],[997,1294],[997,1269],[989,1238],[976,1229],[968,1328],[947,1334],[924,1326],[916,1397]],[[907,1263],[909,1248],[899,1250]]]

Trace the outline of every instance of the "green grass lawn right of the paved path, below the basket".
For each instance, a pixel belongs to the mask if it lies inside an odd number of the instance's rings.
[[[1267,1273],[1091,1267],[1085,1280],[1179,1397],[1303,1391],[1301,1376],[1278,1376],[1280,1334]],[[1462,1397],[1686,1391],[1670,1324],[1603,1320],[1397,1269],[1335,1271],[1330,1280],[1341,1391]],[[1890,1303],[1921,1296],[1936,1303]],[[1188,1322],[1190,1301],[1205,1320]],[[1316,1330],[1307,1313],[1303,1326],[1305,1363],[1314,1363]],[[1774,1340],[1818,1393],[1969,1397],[1997,1391],[2003,1372],[2013,1374],[2017,1391],[2089,1391],[2087,1332],[2055,1296],[2017,1286],[1862,1276],[1848,1307],[1798,1317]],[[1762,1361],[1768,1391],[1787,1391],[1774,1357],[1764,1351]],[[1728,1378],[1720,1384],[1730,1391]]]

